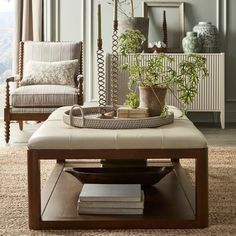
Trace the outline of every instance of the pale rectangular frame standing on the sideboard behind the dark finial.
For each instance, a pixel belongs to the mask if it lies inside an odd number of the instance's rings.
[[[163,15],[163,11],[164,13]],[[165,26],[165,14],[168,21],[168,41]],[[168,51],[182,51],[184,38],[184,2],[143,1],[143,16],[149,17],[149,41],[162,40],[168,45]],[[163,16],[163,18],[162,18]],[[168,18],[168,16],[171,16]]]

